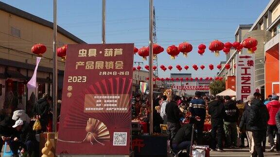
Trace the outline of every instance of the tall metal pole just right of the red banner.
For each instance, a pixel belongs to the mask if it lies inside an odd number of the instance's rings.
[[[150,112],[150,135],[153,134],[154,130],[154,124],[153,124],[153,0],[150,0],[150,22],[149,22],[149,102],[151,105],[151,112]]]

